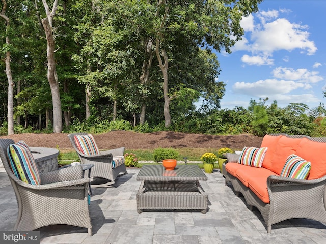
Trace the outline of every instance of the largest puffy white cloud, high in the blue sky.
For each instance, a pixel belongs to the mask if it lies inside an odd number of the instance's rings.
[[[282,9],[260,11],[256,15],[249,15],[241,20],[241,27],[246,32],[242,40],[238,41],[232,51],[249,51],[252,56],[244,55],[241,60],[249,65],[271,65],[274,60],[268,57],[278,50],[293,51],[299,49],[301,53],[312,55],[317,51],[315,43],[309,39],[308,26],[291,23],[285,18],[279,18],[279,13],[288,13]],[[255,21],[256,20],[258,23]],[[286,58],[285,60],[288,60]]]

